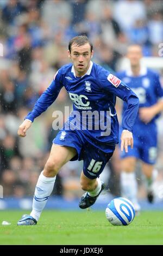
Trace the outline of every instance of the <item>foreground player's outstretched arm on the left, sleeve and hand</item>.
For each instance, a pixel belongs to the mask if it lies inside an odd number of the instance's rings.
[[[52,84],[47,88],[45,92],[42,93],[40,98],[34,105],[34,108],[28,115],[25,117],[25,120],[22,122],[18,128],[17,134],[19,136],[25,137],[27,130],[32,126],[34,119],[37,116],[40,116],[42,112],[46,111],[47,108],[55,101],[58,97],[58,94],[62,88],[62,82],[60,77],[60,70],[54,77]]]

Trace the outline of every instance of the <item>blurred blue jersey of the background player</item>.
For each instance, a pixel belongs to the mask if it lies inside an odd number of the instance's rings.
[[[159,75],[151,69],[142,67],[139,76],[133,76],[130,69],[118,72],[116,75],[136,93],[139,98],[140,108],[150,107],[156,104],[158,100],[163,97],[163,90],[159,81]],[[123,113],[126,108],[127,105],[124,103]],[[148,126],[154,124],[158,116],[159,115],[156,115],[153,120],[148,123]],[[134,128],[139,129],[139,127],[147,127],[147,124],[143,123],[138,115]]]

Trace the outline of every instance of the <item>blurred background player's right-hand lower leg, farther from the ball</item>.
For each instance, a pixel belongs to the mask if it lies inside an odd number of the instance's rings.
[[[142,163],[142,171],[147,181],[147,199],[149,203],[152,203],[154,200],[153,182],[157,176],[157,171],[154,169],[154,165],[145,162]]]

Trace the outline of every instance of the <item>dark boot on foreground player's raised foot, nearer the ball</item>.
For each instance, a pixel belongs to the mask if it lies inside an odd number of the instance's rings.
[[[102,181],[102,186],[101,186],[101,190],[98,193],[98,195],[96,195],[96,197],[90,197],[90,195],[88,194],[88,192],[84,193],[82,195],[82,198],[80,199],[79,202],[79,207],[81,209],[85,209],[87,207],[90,207],[91,205],[95,204],[96,199],[98,198],[99,194],[101,194],[102,190],[105,188],[105,183]]]

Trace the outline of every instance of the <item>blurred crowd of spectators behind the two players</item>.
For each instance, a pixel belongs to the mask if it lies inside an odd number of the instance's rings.
[[[86,34],[93,43],[93,61],[117,70],[129,44],[142,45],[144,56],[158,56],[163,42],[161,0],[1,0],[0,43],[0,184],[4,197],[33,195],[57,130],[53,111],[71,106],[61,90],[56,102],[36,118],[27,138],[17,128],[55,72],[70,62],[68,41]],[[163,144],[162,144],[163,145]],[[105,171],[118,184],[115,152]],[[115,174],[112,174],[116,170]],[[79,197],[82,162],[67,163],[57,176],[53,194]],[[109,182],[109,176],[106,175]],[[114,184],[110,184],[110,186]],[[119,193],[118,187],[116,194]]]

